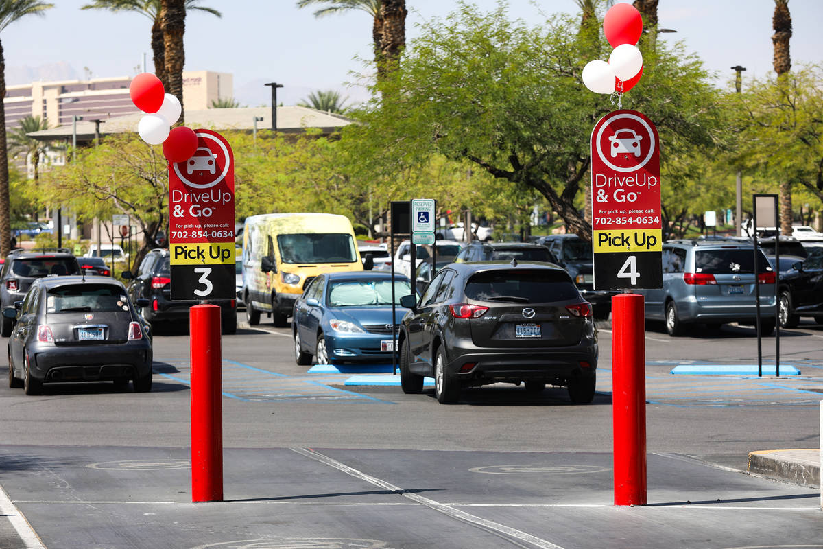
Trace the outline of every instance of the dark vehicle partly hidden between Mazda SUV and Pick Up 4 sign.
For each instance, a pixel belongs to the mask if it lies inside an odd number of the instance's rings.
[[[611,298],[620,292],[594,289],[592,243],[578,235],[548,235],[540,240],[557,258],[577,285],[583,299],[592,304],[594,318],[607,320],[611,314]]]

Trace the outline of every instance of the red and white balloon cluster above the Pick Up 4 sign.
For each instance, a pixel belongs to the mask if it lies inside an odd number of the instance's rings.
[[[643,34],[643,18],[631,4],[615,4],[603,17],[603,34],[614,48],[609,62],[588,62],[583,83],[594,93],[625,93],[643,76],[643,55],[635,45]]]

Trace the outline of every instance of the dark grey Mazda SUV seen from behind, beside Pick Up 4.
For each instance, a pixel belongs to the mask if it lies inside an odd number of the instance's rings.
[[[525,383],[538,393],[565,385],[572,402],[591,402],[597,369],[592,307],[569,274],[548,263],[452,263],[435,275],[402,321],[400,381],[420,393],[435,378],[443,404],[461,389]]]

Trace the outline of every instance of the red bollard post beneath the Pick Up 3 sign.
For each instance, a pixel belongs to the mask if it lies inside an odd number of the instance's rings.
[[[189,309],[191,328],[192,501],[223,500],[220,307]]]

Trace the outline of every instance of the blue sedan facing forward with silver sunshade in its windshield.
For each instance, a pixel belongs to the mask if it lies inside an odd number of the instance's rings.
[[[392,292],[392,290],[394,290]],[[299,365],[392,360],[392,299],[395,321],[408,309],[400,305],[410,295],[407,277],[388,272],[332,272],[309,282],[295,302],[291,329]]]

